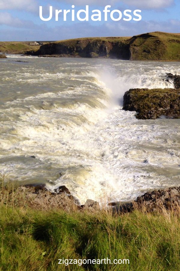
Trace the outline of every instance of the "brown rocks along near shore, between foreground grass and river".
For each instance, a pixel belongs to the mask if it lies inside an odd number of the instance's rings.
[[[6,189],[6,188],[5,188]],[[8,202],[14,207],[31,208],[36,210],[88,211],[101,209],[99,202],[87,199],[84,205],[79,204],[66,186],[59,186],[51,192],[44,184],[24,185],[8,191]],[[5,202],[6,204],[6,202]],[[137,200],[131,202],[110,202],[108,208],[117,213],[129,213],[133,210],[155,212],[172,210],[180,207],[180,187],[172,187],[152,192],[146,192]]]

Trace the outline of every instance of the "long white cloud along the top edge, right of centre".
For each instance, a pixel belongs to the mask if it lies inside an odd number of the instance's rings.
[[[119,0],[67,0],[69,4],[73,5],[96,5],[96,6],[105,6],[105,5],[115,5],[121,4]],[[138,8],[144,9],[158,9],[158,8],[167,8],[170,5],[174,4],[174,0],[122,0],[124,4],[136,6]]]

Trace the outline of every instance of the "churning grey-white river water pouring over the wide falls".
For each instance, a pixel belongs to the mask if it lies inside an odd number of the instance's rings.
[[[122,110],[130,88],[173,87],[163,81],[166,72],[179,74],[179,63],[2,59],[1,175],[49,189],[66,185],[81,203],[179,185],[180,120],[137,120]]]

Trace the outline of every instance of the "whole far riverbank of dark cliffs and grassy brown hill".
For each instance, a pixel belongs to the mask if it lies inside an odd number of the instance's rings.
[[[180,61],[180,34],[152,32],[129,37],[82,38],[51,42],[26,54],[53,57]]]

